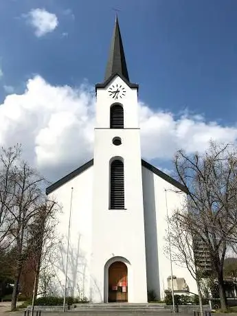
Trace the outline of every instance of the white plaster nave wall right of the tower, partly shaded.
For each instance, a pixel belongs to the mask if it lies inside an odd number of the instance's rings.
[[[146,232],[146,271],[148,289],[155,290],[159,298],[164,297],[164,290],[168,289],[167,278],[170,273],[170,260],[164,253],[167,245],[165,240],[168,229],[166,215],[166,192],[168,201],[168,216],[183,205],[184,193],[171,192],[176,190],[173,185],[161,179],[145,167],[142,167],[144,192],[144,220]],[[185,278],[189,291],[197,293],[196,282],[187,268],[172,263],[173,275]]]

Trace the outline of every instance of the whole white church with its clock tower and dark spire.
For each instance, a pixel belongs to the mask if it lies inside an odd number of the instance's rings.
[[[116,18],[104,82],[95,85],[93,159],[46,190],[63,206],[56,227],[62,247],[49,267],[58,295],[66,269],[67,295],[91,302],[146,303],[148,291],[162,300],[170,289],[167,214],[186,192],[141,157],[138,88],[128,76]],[[172,270],[177,293],[197,293],[188,269],[173,262]]]

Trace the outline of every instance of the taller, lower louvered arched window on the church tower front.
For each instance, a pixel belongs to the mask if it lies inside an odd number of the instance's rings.
[[[114,160],[111,163],[111,207],[124,209],[124,163]]]

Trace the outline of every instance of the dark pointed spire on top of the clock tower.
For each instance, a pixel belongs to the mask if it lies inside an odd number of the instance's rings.
[[[122,45],[122,37],[120,33],[120,25],[117,20],[117,14],[104,81],[110,78],[113,74],[121,75],[129,82],[128,69],[126,67],[124,47]]]

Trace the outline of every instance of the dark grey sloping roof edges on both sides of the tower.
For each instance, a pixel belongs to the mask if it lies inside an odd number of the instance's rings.
[[[93,159],[84,163],[84,165],[80,166],[80,168],[74,170],[73,172],[67,174],[67,176],[63,177],[62,179],[56,181],[52,185],[49,185],[46,189],[46,194],[52,193],[54,190],[58,189],[61,185],[67,183],[71,179],[74,179],[78,174],[82,173],[83,171],[87,170],[89,167],[93,166]],[[188,188],[185,188],[184,185],[173,179],[172,177],[168,176],[168,174],[162,172],[158,168],[154,167],[144,159],[142,159],[142,166],[157,174],[157,176],[161,177],[161,179],[166,180],[168,183],[174,185],[174,187],[178,188],[179,190],[188,193]]]

